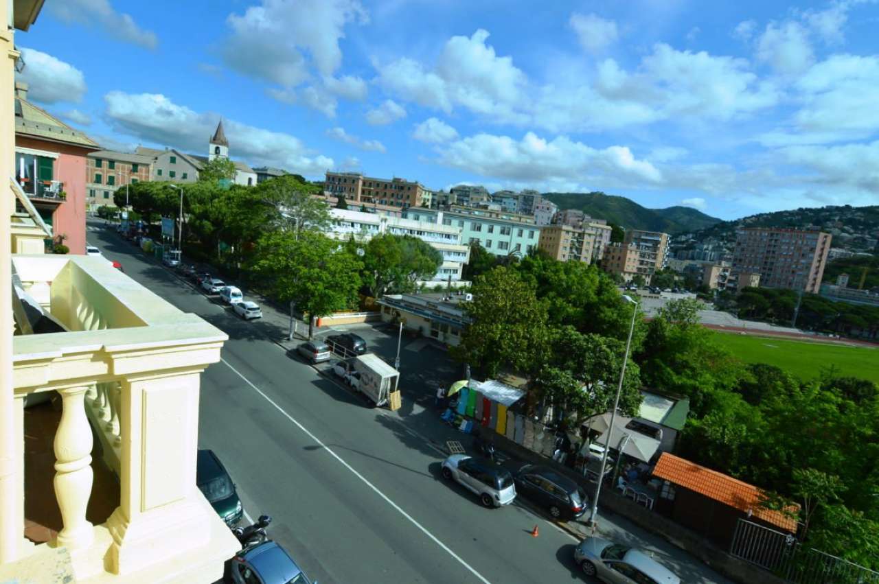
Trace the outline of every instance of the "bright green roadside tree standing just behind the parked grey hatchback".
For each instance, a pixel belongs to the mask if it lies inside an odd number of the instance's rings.
[[[316,318],[356,306],[360,260],[323,234],[269,232],[257,242],[255,258],[272,297],[308,315],[309,338]]]

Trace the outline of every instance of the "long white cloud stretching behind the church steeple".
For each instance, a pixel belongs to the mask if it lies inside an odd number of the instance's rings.
[[[120,133],[139,141],[179,148],[200,154],[206,152],[207,139],[216,129],[219,116],[194,112],[156,93],[130,94],[111,91],[104,96],[105,118]],[[223,119],[229,137],[229,153],[253,164],[276,166],[305,176],[322,175],[333,167],[333,160],[317,155],[301,140],[288,133],[248,126],[234,119]]]

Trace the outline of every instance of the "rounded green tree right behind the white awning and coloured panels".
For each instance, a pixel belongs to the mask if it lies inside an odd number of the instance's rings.
[[[537,301],[534,287],[515,270],[498,267],[477,277],[472,290],[473,300],[463,304],[471,322],[451,355],[486,377],[512,368],[533,379],[548,346],[546,308]]]

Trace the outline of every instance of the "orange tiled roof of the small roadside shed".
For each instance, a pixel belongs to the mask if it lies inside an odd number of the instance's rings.
[[[684,458],[663,452],[657,460],[657,465],[653,468],[653,476],[668,480],[695,493],[703,494],[709,499],[719,501],[745,513],[751,511],[754,517],[772,523],[782,530],[796,532],[795,518],[781,513],[781,511],[760,507],[759,488],[733,479],[723,472],[712,471]],[[790,508],[790,511],[794,513],[799,510],[799,505]]]

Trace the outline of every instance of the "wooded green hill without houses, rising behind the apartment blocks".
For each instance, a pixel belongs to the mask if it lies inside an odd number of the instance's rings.
[[[710,227],[720,220],[690,207],[648,209],[635,201],[603,192],[548,192],[543,197],[559,209],[580,209],[596,219],[605,219],[627,229],[687,233]]]

